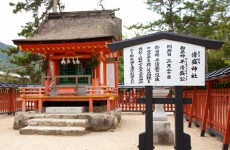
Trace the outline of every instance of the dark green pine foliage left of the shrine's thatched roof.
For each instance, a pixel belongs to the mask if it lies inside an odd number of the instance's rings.
[[[22,26],[22,30],[18,33],[18,35],[28,38],[36,34],[40,23],[53,8],[53,4],[55,4],[53,2],[54,0],[24,0],[18,3],[10,2],[9,5],[13,7],[13,13],[17,14],[25,11],[31,13],[33,18],[33,21],[27,22],[25,26]],[[56,0],[56,2],[58,10],[62,11],[64,9],[64,5],[61,3],[61,0]],[[17,70],[16,73],[21,76],[30,76],[31,83],[40,82],[41,74],[46,68],[46,61],[38,67],[31,64],[42,60],[43,58],[41,55],[32,54],[30,52],[20,52],[17,48],[9,48],[9,50],[5,51],[5,53],[11,56],[10,62],[12,64],[17,65],[18,67],[27,66],[25,69]]]

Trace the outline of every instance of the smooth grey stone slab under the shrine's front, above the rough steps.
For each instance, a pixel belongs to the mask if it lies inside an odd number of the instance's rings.
[[[46,107],[46,113],[83,113],[84,107]]]

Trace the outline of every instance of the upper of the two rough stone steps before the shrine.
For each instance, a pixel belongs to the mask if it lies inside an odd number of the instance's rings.
[[[36,118],[28,120],[29,126],[75,126],[88,127],[87,119],[52,119],[52,118]]]

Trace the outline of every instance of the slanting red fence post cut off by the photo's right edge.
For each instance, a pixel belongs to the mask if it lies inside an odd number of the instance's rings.
[[[227,97],[228,99],[228,114],[226,118],[226,128],[225,128],[225,133],[224,133],[224,139],[223,139],[223,146],[222,150],[228,150],[229,146],[229,140],[230,140],[230,98],[229,96]]]

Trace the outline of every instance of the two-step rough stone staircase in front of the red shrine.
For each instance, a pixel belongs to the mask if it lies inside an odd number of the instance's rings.
[[[65,135],[81,136],[88,128],[87,119],[63,118],[63,115],[49,115],[47,118],[34,118],[28,120],[28,126],[19,130],[25,135]]]

